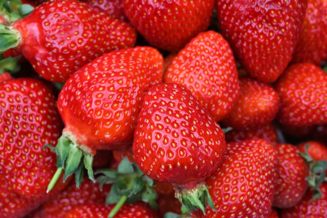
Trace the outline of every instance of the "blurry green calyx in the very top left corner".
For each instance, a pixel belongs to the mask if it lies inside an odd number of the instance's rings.
[[[29,4],[22,4],[21,0],[0,0],[0,15],[6,25],[25,17],[34,10]]]

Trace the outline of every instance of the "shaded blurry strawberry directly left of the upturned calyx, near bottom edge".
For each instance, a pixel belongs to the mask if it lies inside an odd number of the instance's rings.
[[[84,204],[103,204],[110,192],[111,185],[103,185],[102,191],[99,184],[88,178],[83,178],[80,188],[72,182],[56,197],[43,204],[32,216],[33,218],[64,218],[66,213]]]

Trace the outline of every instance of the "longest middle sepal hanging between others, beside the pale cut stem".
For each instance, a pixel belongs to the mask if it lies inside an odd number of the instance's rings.
[[[69,154],[66,159],[65,175],[63,177],[64,181],[66,181],[68,176],[72,175],[74,171],[77,169],[81,158],[82,158],[82,150],[77,148],[76,144],[71,143],[69,145]]]

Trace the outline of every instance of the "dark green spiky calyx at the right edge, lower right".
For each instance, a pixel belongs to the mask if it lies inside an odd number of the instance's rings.
[[[310,143],[307,143],[305,145],[305,153],[298,152],[298,154],[301,155],[302,158],[305,160],[309,169],[309,175],[306,177],[306,180],[308,181],[310,188],[313,189],[313,197],[309,201],[309,203],[311,203],[314,200],[317,200],[322,197],[322,193],[319,187],[323,182],[327,182],[327,161],[314,161],[308,153],[309,146]]]

